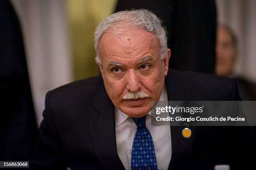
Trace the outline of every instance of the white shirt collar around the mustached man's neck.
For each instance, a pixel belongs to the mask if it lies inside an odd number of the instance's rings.
[[[159,101],[168,101],[167,90],[165,86],[161,93]],[[148,112],[148,115],[151,116],[151,111]],[[124,112],[122,112],[117,107],[115,107],[115,126],[116,127],[121,125],[123,122],[125,122],[125,120],[127,120],[128,117],[129,117],[128,115],[126,115]]]

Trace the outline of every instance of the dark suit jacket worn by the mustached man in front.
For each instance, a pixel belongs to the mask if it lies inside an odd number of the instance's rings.
[[[235,79],[215,75],[169,70],[166,87],[168,100],[240,100]],[[114,105],[102,77],[48,92],[43,115],[31,168],[124,169],[116,148]],[[170,170],[207,170],[217,164],[234,169],[250,158],[246,127],[191,126],[188,139],[182,137],[183,128],[171,127]]]

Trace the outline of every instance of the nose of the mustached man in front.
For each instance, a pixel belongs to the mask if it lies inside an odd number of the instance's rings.
[[[129,71],[127,74],[127,90],[130,92],[138,92],[141,88],[140,78],[136,71]]]

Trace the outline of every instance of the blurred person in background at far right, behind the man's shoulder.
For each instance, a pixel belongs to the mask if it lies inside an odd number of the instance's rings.
[[[215,73],[220,76],[236,77],[234,64],[238,57],[238,42],[233,30],[226,25],[217,28]],[[242,100],[256,100],[256,84],[244,77],[236,77],[238,92]]]

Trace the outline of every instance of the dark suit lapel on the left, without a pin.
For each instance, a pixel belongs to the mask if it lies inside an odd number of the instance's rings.
[[[95,105],[91,110],[92,114],[99,115],[90,120],[93,147],[104,169],[124,169],[116,148],[114,106],[105,87],[101,89],[95,97]]]

